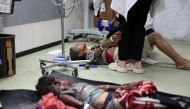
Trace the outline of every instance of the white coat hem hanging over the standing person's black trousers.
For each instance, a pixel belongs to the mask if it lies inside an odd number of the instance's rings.
[[[137,0],[112,0],[111,8],[127,20],[128,11],[136,2]]]

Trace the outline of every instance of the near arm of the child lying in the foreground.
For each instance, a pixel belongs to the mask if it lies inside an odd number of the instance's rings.
[[[85,107],[85,103],[83,103],[82,101],[80,101],[68,94],[60,93],[59,99],[61,101],[63,101],[64,103],[68,104],[69,106],[73,106],[78,109],[83,109]],[[93,107],[91,105],[89,105],[88,108],[86,108],[86,109],[93,109]]]

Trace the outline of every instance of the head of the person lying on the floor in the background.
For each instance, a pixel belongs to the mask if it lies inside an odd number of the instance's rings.
[[[79,43],[71,47],[70,53],[69,53],[71,60],[85,60],[87,50],[88,48],[86,47],[86,44],[84,43]]]

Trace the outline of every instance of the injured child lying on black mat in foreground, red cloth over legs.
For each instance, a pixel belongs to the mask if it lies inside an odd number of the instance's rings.
[[[36,89],[41,95],[53,92],[63,103],[77,109],[179,109],[190,105],[188,100],[180,103],[181,96],[159,94],[152,81],[143,80],[123,85],[91,85],[41,77]]]

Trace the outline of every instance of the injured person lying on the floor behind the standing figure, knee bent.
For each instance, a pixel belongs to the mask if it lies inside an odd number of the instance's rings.
[[[90,59],[94,64],[107,65],[118,59],[117,42],[120,40],[121,32],[117,31],[102,41],[98,46],[88,48],[86,44],[79,43],[70,48],[71,60],[86,60]],[[147,36],[144,41],[143,58],[153,56],[153,48],[156,46],[160,51],[170,57],[176,65],[177,69],[190,69],[190,61],[180,56],[171,45],[153,29],[147,30]],[[133,65],[132,63],[130,65]],[[137,73],[137,72],[136,72]]]

